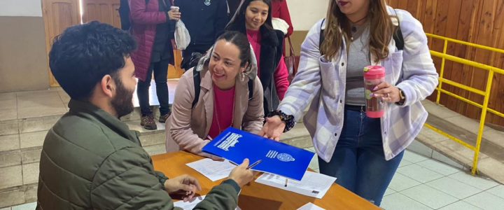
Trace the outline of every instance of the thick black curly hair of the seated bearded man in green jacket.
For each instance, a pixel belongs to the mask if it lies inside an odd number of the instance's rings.
[[[72,99],[87,101],[97,83],[125,66],[137,48],[127,32],[93,21],[66,29],[49,52],[52,75]]]

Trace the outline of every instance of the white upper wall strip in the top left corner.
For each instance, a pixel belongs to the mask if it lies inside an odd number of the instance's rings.
[[[0,16],[42,17],[41,0],[0,0]]]

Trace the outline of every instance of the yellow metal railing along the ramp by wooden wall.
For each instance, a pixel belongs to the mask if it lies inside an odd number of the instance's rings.
[[[437,88],[436,88],[436,90],[437,90],[436,104],[440,104],[441,93],[444,93],[444,94],[447,94],[451,97],[459,99],[463,102],[466,102],[468,104],[471,104],[473,106],[477,106],[477,107],[481,108],[482,113],[479,118],[479,130],[478,130],[477,139],[476,139],[476,146],[472,146],[470,144],[467,144],[464,141],[462,141],[461,139],[457,139],[456,137],[451,136],[450,134],[447,134],[446,132],[443,132],[442,130],[437,129],[436,127],[433,127],[432,125],[429,125],[428,123],[426,123],[426,127],[430,128],[430,129],[434,130],[435,132],[440,133],[440,134],[444,135],[445,137],[448,137],[449,139],[456,141],[458,144],[461,144],[462,146],[465,146],[466,148],[469,148],[470,150],[474,151],[475,155],[474,155],[474,158],[472,161],[471,172],[472,172],[472,174],[476,174],[477,173],[477,163],[478,163],[478,159],[479,159],[479,150],[481,148],[481,141],[483,138],[483,130],[484,130],[484,123],[485,123],[485,119],[486,119],[486,112],[490,112],[490,113],[493,113],[497,116],[500,116],[501,118],[504,118],[504,113],[500,113],[500,112],[498,112],[494,109],[490,109],[488,107],[488,103],[489,103],[489,99],[490,99],[490,91],[491,91],[491,86],[492,86],[492,82],[493,82],[493,75],[495,73],[500,73],[500,74],[504,75],[504,69],[499,69],[494,66],[489,66],[486,64],[478,63],[478,62],[473,62],[468,59],[463,59],[463,58],[456,57],[453,55],[448,55],[447,54],[447,47],[448,47],[448,43],[457,43],[457,44],[468,45],[468,46],[483,49],[483,50],[489,50],[491,52],[499,52],[499,53],[503,53],[503,54],[504,54],[504,50],[498,49],[498,48],[491,48],[489,46],[484,46],[484,45],[477,45],[475,43],[460,41],[460,40],[456,40],[453,38],[447,38],[444,36],[437,36],[435,34],[427,34],[427,36],[431,37],[431,38],[441,39],[444,41],[443,52],[436,52],[436,51],[430,50],[430,55],[433,55],[435,57],[440,57],[442,59],[441,60],[440,77],[439,77],[439,85],[437,85]],[[457,83],[452,80],[448,80],[448,79],[444,78],[444,62],[446,60],[456,62],[459,64],[473,66],[473,67],[476,67],[479,69],[489,71],[488,78],[486,79],[485,90],[484,91],[477,90],[474,87],[469,87],[467,85],[463,85],[461,83]],[[461,97],[458,94],[455,94],[453,92],[449,92],[447,90],[442,89],[442,85],[444,83],[446,83],[448,85],[452,85],[454,87],[461,88],[462,90],[467,90],[469,92],[473,92],[475,94],[482,95],[484,97],[483,104],[478,104],[477,102],[473,102],[470,99],[466,99],[465,97]]]

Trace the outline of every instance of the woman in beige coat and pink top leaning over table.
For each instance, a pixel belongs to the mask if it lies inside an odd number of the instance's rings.
[[[251,51],[244,34],[225,32],[198,65],[183,74],[166,124],[167,152],[182,149],[218,159],[202,148],[223,130],[261,130],[263,91]],[[195,77],[200,79],[197,84]],[[200,87],[197,99],[195,87]]]

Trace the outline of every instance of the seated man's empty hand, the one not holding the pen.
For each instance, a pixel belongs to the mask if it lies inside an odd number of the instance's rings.
[[[196,190],[202,190],[197,179],[187,174],[165,181],[165,189],[169,194],[181,195],[184,202],[192,200]]]

